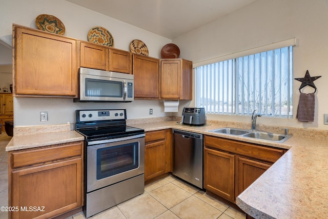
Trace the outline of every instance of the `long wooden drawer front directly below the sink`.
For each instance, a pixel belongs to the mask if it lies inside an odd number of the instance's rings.
[[[284,152],[283,149],[263,147],[212,136],[205,136],[204,146],[249,156],[272,163],[276,162]]]

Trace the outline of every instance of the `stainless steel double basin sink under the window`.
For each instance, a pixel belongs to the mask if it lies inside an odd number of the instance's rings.
[[[214,129],[209,131],[215,133],[227,134],[227,135],[240,136],[240,137],[256,138],[258,140],[276,142],[276,143],[283,143],[284,141],[288,140],[288,138],[291,137],[291,135],[275,134],[270,132],[237,129],[237,128],[229,128],[229,127]]]

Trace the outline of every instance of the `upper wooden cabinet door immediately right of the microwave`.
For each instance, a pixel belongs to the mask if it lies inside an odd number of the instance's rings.
[[[159,98],[159,59],[133,54],[134,98]]]

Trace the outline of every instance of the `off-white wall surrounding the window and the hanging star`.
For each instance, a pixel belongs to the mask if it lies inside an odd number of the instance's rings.
[[[294,48],[294,78],[322,75],[314,83],[317,87],[313,123],[296,119],[300,82],[293,82],[294,118],[260,117],[259,124],[328,129],[323,114],[328,113],[328,1],[327,0],[258,0],[212,23],[180,35],[172,40],[179,45],[181,56],[194,63],[231,54],[261,45],[296,37]],[[305,90],[313,92],[313,89]],[[194,103],[187,103],[187,105]],[[182,107],[182,106],[181,106]],[[178,113],[180,114],[180,113]],[[218,116],[208,118],[250,122],[250,116]]]

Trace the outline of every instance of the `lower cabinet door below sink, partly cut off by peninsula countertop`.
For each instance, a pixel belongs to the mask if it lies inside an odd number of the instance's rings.
[[[272,164],[250,160],[249,158],[238,157],[238,191],[236,197],[247,187],[249,187],[265,170]]]

